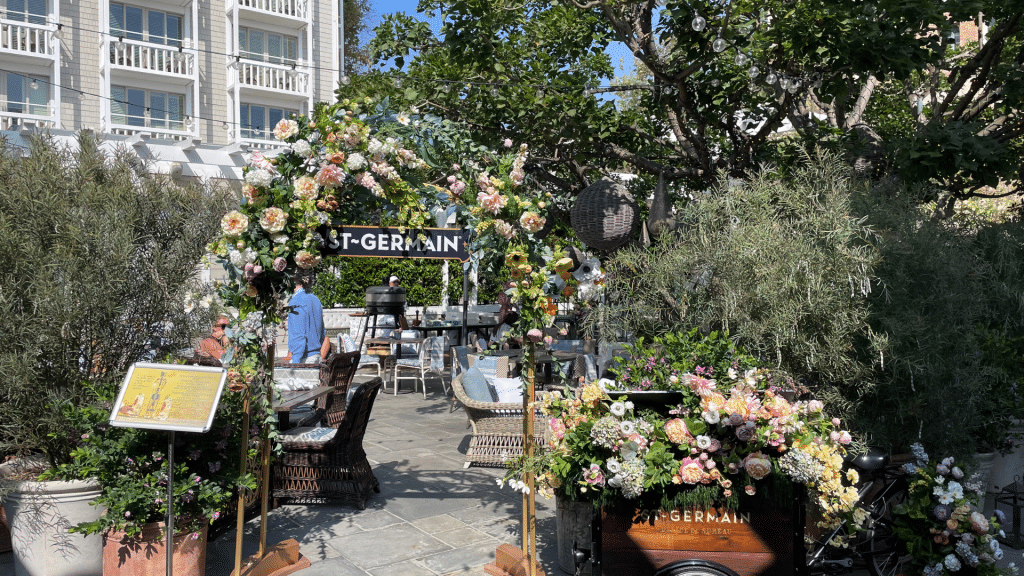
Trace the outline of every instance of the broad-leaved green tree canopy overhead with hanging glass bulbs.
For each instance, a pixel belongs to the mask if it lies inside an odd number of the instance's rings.
[[[775,135],[788,125],[944,198],[1000,180],[1004,194],[1020,193],[1019,2],[421,0],[418,9],[442,16],[439,33],[385,15],[371,48],[396,70],[339,96],[386,94],[465,123],[488,146],[527,142],[527,168],[568,196],[612,170],[707,190],[721,171],[784,165],[795,148]],[[985,43],[951,49],[956,23],[979,17]],[[634,54],[637,84],[608,86],[613,41]],[[902,96],[880,109],[883,83]],[[898,133],[871,125],[893,115],[906,118]]]

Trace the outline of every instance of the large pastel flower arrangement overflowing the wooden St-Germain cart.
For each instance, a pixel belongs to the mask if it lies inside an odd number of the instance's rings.
[[[822,526],[863,520],[854,512],[857,475],[843,469],[850,433],[821,402],[796,399],[791,381],[724,335],[670,339],[688,345],[633,356],[615,381],[545,394],[540,409],[549,445],[534,462],[511,462],[506,480],[531,467],[548,497],[557,491],[596,505],[626,500],[660,509],[736,509],[748,496],[781,502],[799,484]],[[680,347],[703,356],[675,356]],[[673,392],[677,399],[647,409],[634,404],[628,389]]]

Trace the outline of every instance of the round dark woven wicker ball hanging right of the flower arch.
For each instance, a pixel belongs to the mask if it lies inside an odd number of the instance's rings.
[[[626,187],[602,178],[580,193],[569,218],[584,244],[607,252],[633,238],[640,222],[640,206]]]

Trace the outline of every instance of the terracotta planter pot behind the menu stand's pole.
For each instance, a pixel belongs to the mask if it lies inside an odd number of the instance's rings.
[[[198,535],[174,535],[174,556],[171,558],[174,576],[203,576],[206,573],[206,537],[209,525]],[[165,525],[151,523],[142,534],[129,538],[124,532],[103,535],[103,576],[165,576],[167,546]]]

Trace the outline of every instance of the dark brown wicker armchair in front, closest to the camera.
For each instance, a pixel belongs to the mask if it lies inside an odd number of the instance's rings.
[[[284,453],[273,463],[274,498],[351,503],[360,510],[367,507],[371,492],[380,492],[380,483],[362,450],[362,437],[382,384],[380,378],[359,383],[349,395],[347,406],[345,390],[331,393],[325,425],[336,431],[330,439],[281,437]]]

